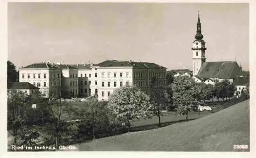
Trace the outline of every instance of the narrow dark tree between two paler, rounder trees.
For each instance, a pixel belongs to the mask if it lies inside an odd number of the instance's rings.
[[[158,126],[161,126],[161,116],[162,110],[166,107],[168,103],[168,94],[167,89],[163,86],[160,86],[158,80],[153,77],[152,79],[152,89],[150,93],[151,104],[152,104],[152,111],[154,115],[158,117]]]

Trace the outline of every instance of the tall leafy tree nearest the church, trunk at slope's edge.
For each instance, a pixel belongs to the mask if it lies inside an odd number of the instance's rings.
[[[198,87],[195,82],[188,76],[178,76],[174,79],[173,100],[177,114],[185,115],[188,121],[188,112],[198,110],[196,96],[198,96]]]

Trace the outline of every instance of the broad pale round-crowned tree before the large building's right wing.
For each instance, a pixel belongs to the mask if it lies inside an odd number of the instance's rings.
[[[111,121],[125,125],[129,131],[134,119],[152,116],[150,97],[136,86],[115,89],[109,98],[108,109],[111,112]]]

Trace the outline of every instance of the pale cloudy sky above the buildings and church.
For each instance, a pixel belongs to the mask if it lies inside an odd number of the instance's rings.
[[[198,11],[206,61],[249,69],[249,5],[210,3],[8,3],[8,60],[154,62],[192,69]]]

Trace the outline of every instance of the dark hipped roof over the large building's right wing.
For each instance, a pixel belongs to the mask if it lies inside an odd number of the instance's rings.
[[[96,64],[99,67],[133,67],[143,69],[166,69],[166,67],[160,66],[151,62],[135,62],[135,61],[118,61],[118,60],[106,60]]]

